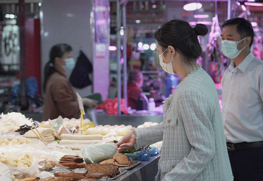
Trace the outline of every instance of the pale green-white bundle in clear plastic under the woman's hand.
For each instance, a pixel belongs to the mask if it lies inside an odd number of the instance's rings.
[[[97,143],[85,147],[81,150],[79,156],[83,158],[85,163],[99,163],[102,160],[112,159],[117,152],[118,146],[115,143]]]

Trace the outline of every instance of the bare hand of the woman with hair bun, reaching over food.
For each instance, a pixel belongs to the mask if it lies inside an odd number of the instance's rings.
[[[128,148],[132,148],[135,145],[136,142],[136,134],[135,131],[129,131],[127,134],[125,134],[122,139],[117,143],[117,146],[120,146],[116,150],[120,153],[123,150],[126,150]],[[123,143],[123,144],[122,144]]]

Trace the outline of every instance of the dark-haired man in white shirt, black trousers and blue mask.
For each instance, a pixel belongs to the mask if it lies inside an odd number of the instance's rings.
[[[222,25],[222,52],[233,61],[222,83],[222,119],[234,181],[263,180],[263,61],[250,51],[250,21]]]

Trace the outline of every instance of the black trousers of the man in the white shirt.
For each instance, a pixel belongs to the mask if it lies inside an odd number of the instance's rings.
[[[234,181],[263,180],[263,148],[228,152]]]

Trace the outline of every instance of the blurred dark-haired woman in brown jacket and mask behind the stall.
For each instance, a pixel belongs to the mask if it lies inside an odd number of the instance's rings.
[[[77,95],[67,79],[67,72],[75,67],[72,48],[68,44],[56,44],[51,48],[50,61],[44,70],[44,113],[42,121],[63,118],[80,118]],[[95,108],[97,101],[83,98],[83,104]]]

